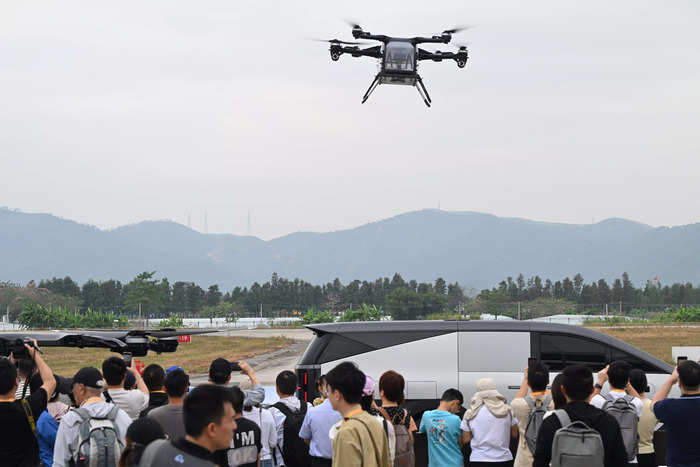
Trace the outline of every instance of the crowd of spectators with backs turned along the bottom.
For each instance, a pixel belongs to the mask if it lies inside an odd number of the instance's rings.
[[[312,403],[296,396],[295,373],[282,371],[279,401],[268,406],[245,362],[218,358],[208,382],[191,388],[183,368],[152,364],[141,374],[116,356],[101,371],[64,379],[35,342],[25,347],[21,358],[0,358],[2,465],[412,467],[420,435],[431,467],[646,467],[657,465],[660,423],[666,465],[700,465],[700,365],[692,361],[653,399],[645,373],[627,362],[595,376],[568,366],[550,382],[547,366],[530,361],[513,400],[482,378],[467,401],[448,388],[437,407],[414,413],[402,375],[389,370],[375,384],[352,362],[318,379]],[[249,389],[231,384],[236,370]],[[681,397],[668,398],[676,384]],[[571,456],[584,464],[568,464]]]

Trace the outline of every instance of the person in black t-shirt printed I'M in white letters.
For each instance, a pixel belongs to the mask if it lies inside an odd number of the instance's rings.
[[[262,450],[262,432],[260,427],[243,418],[243,391],[239,387],[231,388],[233,411],[236,413],[236,429],[228,449],[217,451],[215,456],[219,467],[258,467]]]

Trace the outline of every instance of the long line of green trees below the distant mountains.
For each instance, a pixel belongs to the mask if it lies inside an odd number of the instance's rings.
[[[24,291],[13,284],[0,283],[0,306],[21,302],[18,294],[7,291]],[[38,291],[38,292],[37,292]],[[41,293],[47,291],[48,295]],[[4,294],[4,295],[3,295]],[[179,316],[264,316],[284,315],[308,309],[328,310],[340,313],[348,309],[360,309],[367,304],[383,310],[393,317],[413,319],[434,315],[497,312],[497,304],[505,304],[513,314],[515,303],[530,303],[532,307],[552,310],[585,312],[592,308],[600,311],[603,306],[631,308],[660,305],[700,303],[700,288],[691,283],[662,285],[650,280],[643,287],[636,287],[625,272],[611,284],[606,279],[586,282],[581,274],[559,280],[542,279],[540,276],[525,278],[519,274],[508,277],[491,289],[484,289],[475,296],[465,295],[458,283],[447,283],[443,278],[433,282],[405,280],[399,273],[391,278],[380,277],[373,281],[353,280],[346,284],[335,279],[326,284],[312,284],[302,279],[286,279],[273,273],[264,283],[254,282],[249,287],[236,286],[222,291],[218,284],[203,288],[194,282],[170,283],[167,278],[156,278],[155,271],[138,274],[131,281],[110,279],[88,280],[82,286],[70,277],[42,280],[27,300],[49,306],[63,305],[80,310],[100,310],[118,315],[143,317]],[[7,299],[6,297],[10,297]],[[5,298],[4,298],[5,297]],[[486,306],[489,305],[489,306]],[[542,305],[542,306],[540,306]],[[577,305],[573,307],[572,305]],[[14,310],[14,308],[13,308]],[[21,306],[17,314],[21,311]],[[617,311],[613,308],[613,311]],[[558,311],[557,311],[558,312]]]

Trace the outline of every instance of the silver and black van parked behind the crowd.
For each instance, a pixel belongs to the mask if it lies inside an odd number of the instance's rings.
[[[508,399],[515,396],[528,357],[552,373],[575,363],[598,371],[625,360],[647,373],[650,393],[673,367],[618,339],[579,326],[532,321],[380,321],[306,326],[315,336],[296,366],[299,397],[312,400],[314,383],[342,361],[355,362],[375,381],[387,370],[406,380],[407,405],[433,409],[442,392],[458,388],[465,399],[476,381],[491,377]]]

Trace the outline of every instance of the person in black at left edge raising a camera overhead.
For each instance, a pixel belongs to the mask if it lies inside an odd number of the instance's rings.
[[[46,410],[48,397],[56,388],[56,380],[38,352],[36,341],[33,341],[33,345],[24,344],[24,347],[45,382],[21,401],[15,399],[19,378],[14,357],[0,357],[0,463],[3,465],[39,465],[39,445],[34,431],[36,421]]]

